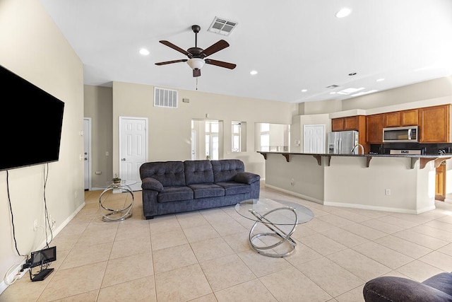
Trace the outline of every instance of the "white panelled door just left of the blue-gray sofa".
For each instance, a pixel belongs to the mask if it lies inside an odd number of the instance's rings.
[[[140,166],[148,158],[148,119],[145,117],[119,117],[119,175],[141,190]]]

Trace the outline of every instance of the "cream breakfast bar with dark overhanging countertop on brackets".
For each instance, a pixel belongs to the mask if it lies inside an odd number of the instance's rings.
[[[263,152],[266,187],[335,207],[435,209],[435,168],[452,155]]]

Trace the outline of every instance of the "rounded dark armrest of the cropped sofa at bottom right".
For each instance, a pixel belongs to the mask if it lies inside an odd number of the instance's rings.
[[[400,277],[378,277],[364,285],[364,301],[451,301],[452,296],[411,279]]]

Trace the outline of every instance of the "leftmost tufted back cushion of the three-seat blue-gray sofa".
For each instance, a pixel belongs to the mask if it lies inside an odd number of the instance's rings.
[[[182,186],[185,184],[184,163],[182,161],[154,161],[143,163],[140,177],[155,178],[163,187]]]

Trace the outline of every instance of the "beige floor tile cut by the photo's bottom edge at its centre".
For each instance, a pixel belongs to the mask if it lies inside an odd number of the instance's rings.
[[[276,302],[275,297],[263,286],[261,281],[251,281],[231,286],[222,291],[215,291],[218,302]]]

